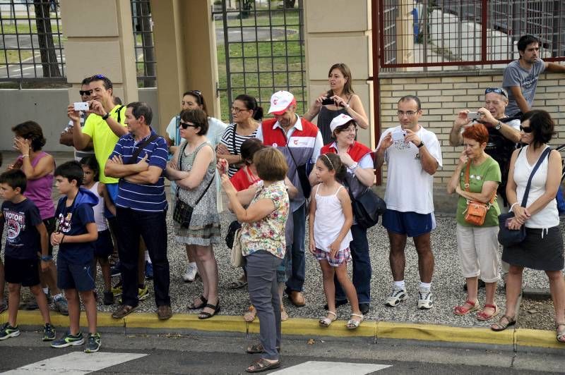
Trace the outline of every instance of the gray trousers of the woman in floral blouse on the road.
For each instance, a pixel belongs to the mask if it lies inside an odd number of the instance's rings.
[[[259,318],[259,339],[266,359],[277,360],[280,347],[280,300],[277,268],[283,259],[259,250],[246,256],[249,299]]]

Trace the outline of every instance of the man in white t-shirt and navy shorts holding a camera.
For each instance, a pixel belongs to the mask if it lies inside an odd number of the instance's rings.
[[[386,161],[386,213],[383,226],[391,242],[391,271],[394,285],[386,305],[394,307],[408,296],[404,285],[406,238],[414,238],[420,269],[418,308],[431,309],[434,254],[430,232],[435,228],[434,173],[441,167],[441,149],[434,133],[418,123],[420,99],[413,95],[398,101],[400,125],[381,135],[375,152],[375,168]]]

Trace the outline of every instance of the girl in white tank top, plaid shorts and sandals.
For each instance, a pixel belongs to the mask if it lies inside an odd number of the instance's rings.
[[[338,180],[345,177],[345,166],[338,154],[323,154],[316,161],[316,178],[319,185],[312,189],[310,201],[310,247],[318,259],[323,276],[323,291],[328,301],[328,313],[320,325],[328,327],[337,318],[335,312],[335,285],[337,276],[351,304],[351,319],[346,327],[355,329],[363,321],[359,310],[355,286],[347,276],[347,261],[351,259],[349,244],[352,241],[353,213],[351,199]]]

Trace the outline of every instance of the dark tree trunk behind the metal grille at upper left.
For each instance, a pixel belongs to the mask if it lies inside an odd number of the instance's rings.
[[[37,41],[40,44],[41,65],[44,77],[61,77],[57,53],[53,43],[53,32],[51,30],[51,16],[49,7],[51,1],[33,1],[35,8],[35,25],[37,26]]]

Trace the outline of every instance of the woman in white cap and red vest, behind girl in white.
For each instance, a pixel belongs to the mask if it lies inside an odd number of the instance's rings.
[[[321,154],[328,152],[338,154],[341,162],[347,166],[345,185],[353,197],[358,197],[374,183],[373,159],[369,147],[355,140],[357,123],[346,115],[340,114],[333,118],[330,124],[333,142],[321,149]],[[353,240],[350,243],[353,259],[353,285],[357,290],[359,309],[362,314],[369,312],[371,303],[371,258],[369,257],[369,241],[367,229],[353,221],[351,226]],[[335,307],[345,305],[347,299],[337,278],[335,284]]]

